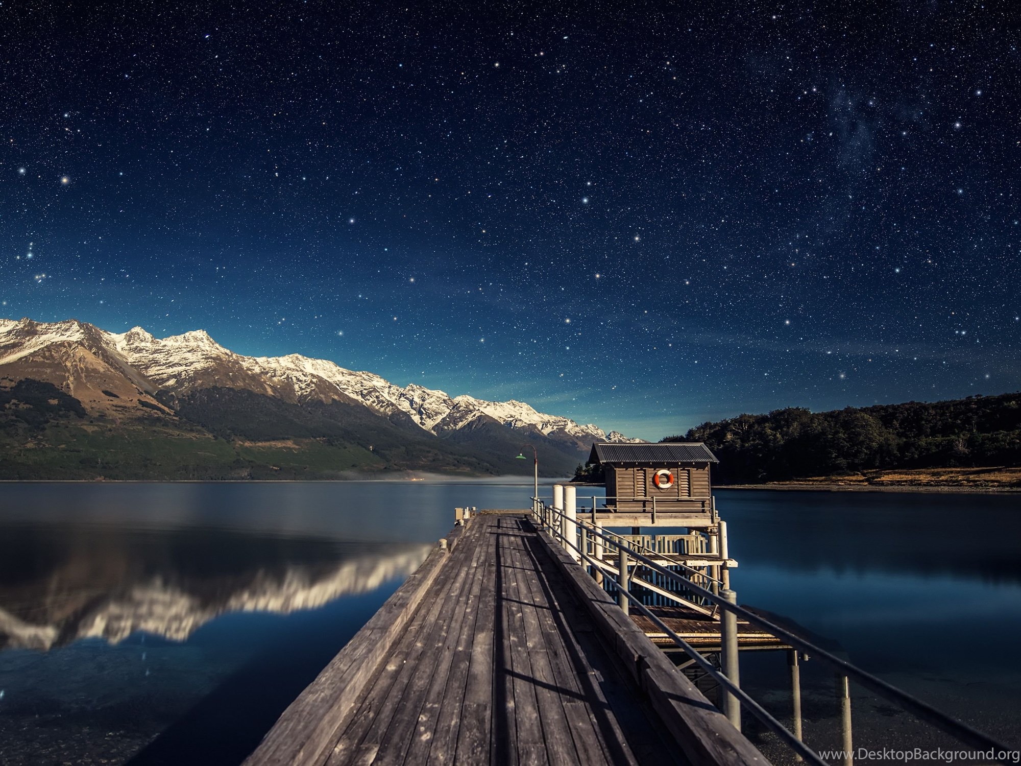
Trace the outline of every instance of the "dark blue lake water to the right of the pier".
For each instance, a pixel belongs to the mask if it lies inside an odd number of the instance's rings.
[[[718,490],[717,505],[739,603],[796,621],[859,667],[1021,747],[1021,496]],[[742,681],[789,720],[788,670],[775,654],[742,655]],[[832,673],[810,660],[803,683],[806,741],[837,747]],[[959,747],[852,692],[856,748]]]

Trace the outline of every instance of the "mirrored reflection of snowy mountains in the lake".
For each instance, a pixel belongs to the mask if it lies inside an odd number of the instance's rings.
[[[259,537],[221,529],[152,533],[35,528],[0,541],[0,648],[49,650],[137,631],[176,641],[229,612],[288,614],[403,578],[425,544]]]

